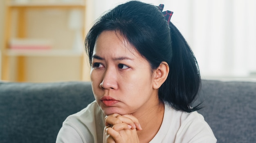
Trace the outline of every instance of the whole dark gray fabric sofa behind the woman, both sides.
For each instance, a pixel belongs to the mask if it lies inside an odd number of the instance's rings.
[[[0,143],[54,143],[62,122],[94,100],[90,82],[0,82]],[[218,143],[256,142],[256,83],[203,80],[198,111]]]

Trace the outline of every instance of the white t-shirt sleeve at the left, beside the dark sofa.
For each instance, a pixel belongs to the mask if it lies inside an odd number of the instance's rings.
[[[58,132],[56,143],[84,143],[74,128],[67,124],[63,124]]]

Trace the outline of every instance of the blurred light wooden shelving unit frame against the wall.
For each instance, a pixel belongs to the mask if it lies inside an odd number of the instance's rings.
[[[85,21],[85,10],[86,2],[85,0],[72,0],[70,2],[61,2],[61,0],[50,2],[50,1],[36,1],[30,0],[29,2],[19,3],[15,0],[6,1],[6,20],[5,20],[5,34],[4,34],[4,47],[1,52],[1,61],[2,61],[2,80],[9,80],[10,78],[10,57],[16,57],[16,77],[18,82],[25,82],[26,80],[26,57],[43,57],[43,56],[54,56],[54,57],[68,57],[68,56],[77,56],[83,61],[83,52],[77,51],[74,49],[54,49],[51,50],[14,50],[10,49],[9,41],[11,38],[11,24],[12,24],[12,12],[18,11],[17,16],[17,32],[16,37],[19,39],[24,39],[27,37],[27,17],[26,11],[31,9],[53,9],[53,10],[74,10],[79,9],[83,11],[83,18]],[[81,29],[83,37],[85,35],[85,27]],[[83,62],[81,62],[81,70],[83,69]],[[82,71],[80,72],[82,73]],[[81,75],[82,79],[82,75]]]

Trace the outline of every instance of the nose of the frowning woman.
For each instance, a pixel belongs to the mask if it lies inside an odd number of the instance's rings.
[[[99,86],[103,89],[117,89],[117,73],[115,69],[106,69]]]

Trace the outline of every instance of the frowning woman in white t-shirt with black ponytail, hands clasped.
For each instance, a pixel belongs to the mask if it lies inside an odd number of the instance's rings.
[[[200,107],[192,107],[197,61],[169,22],[172,12],[159,9],[130,1],[92,26],[85,46],[95,101],[67,117],[56,142],[216,142]]]

